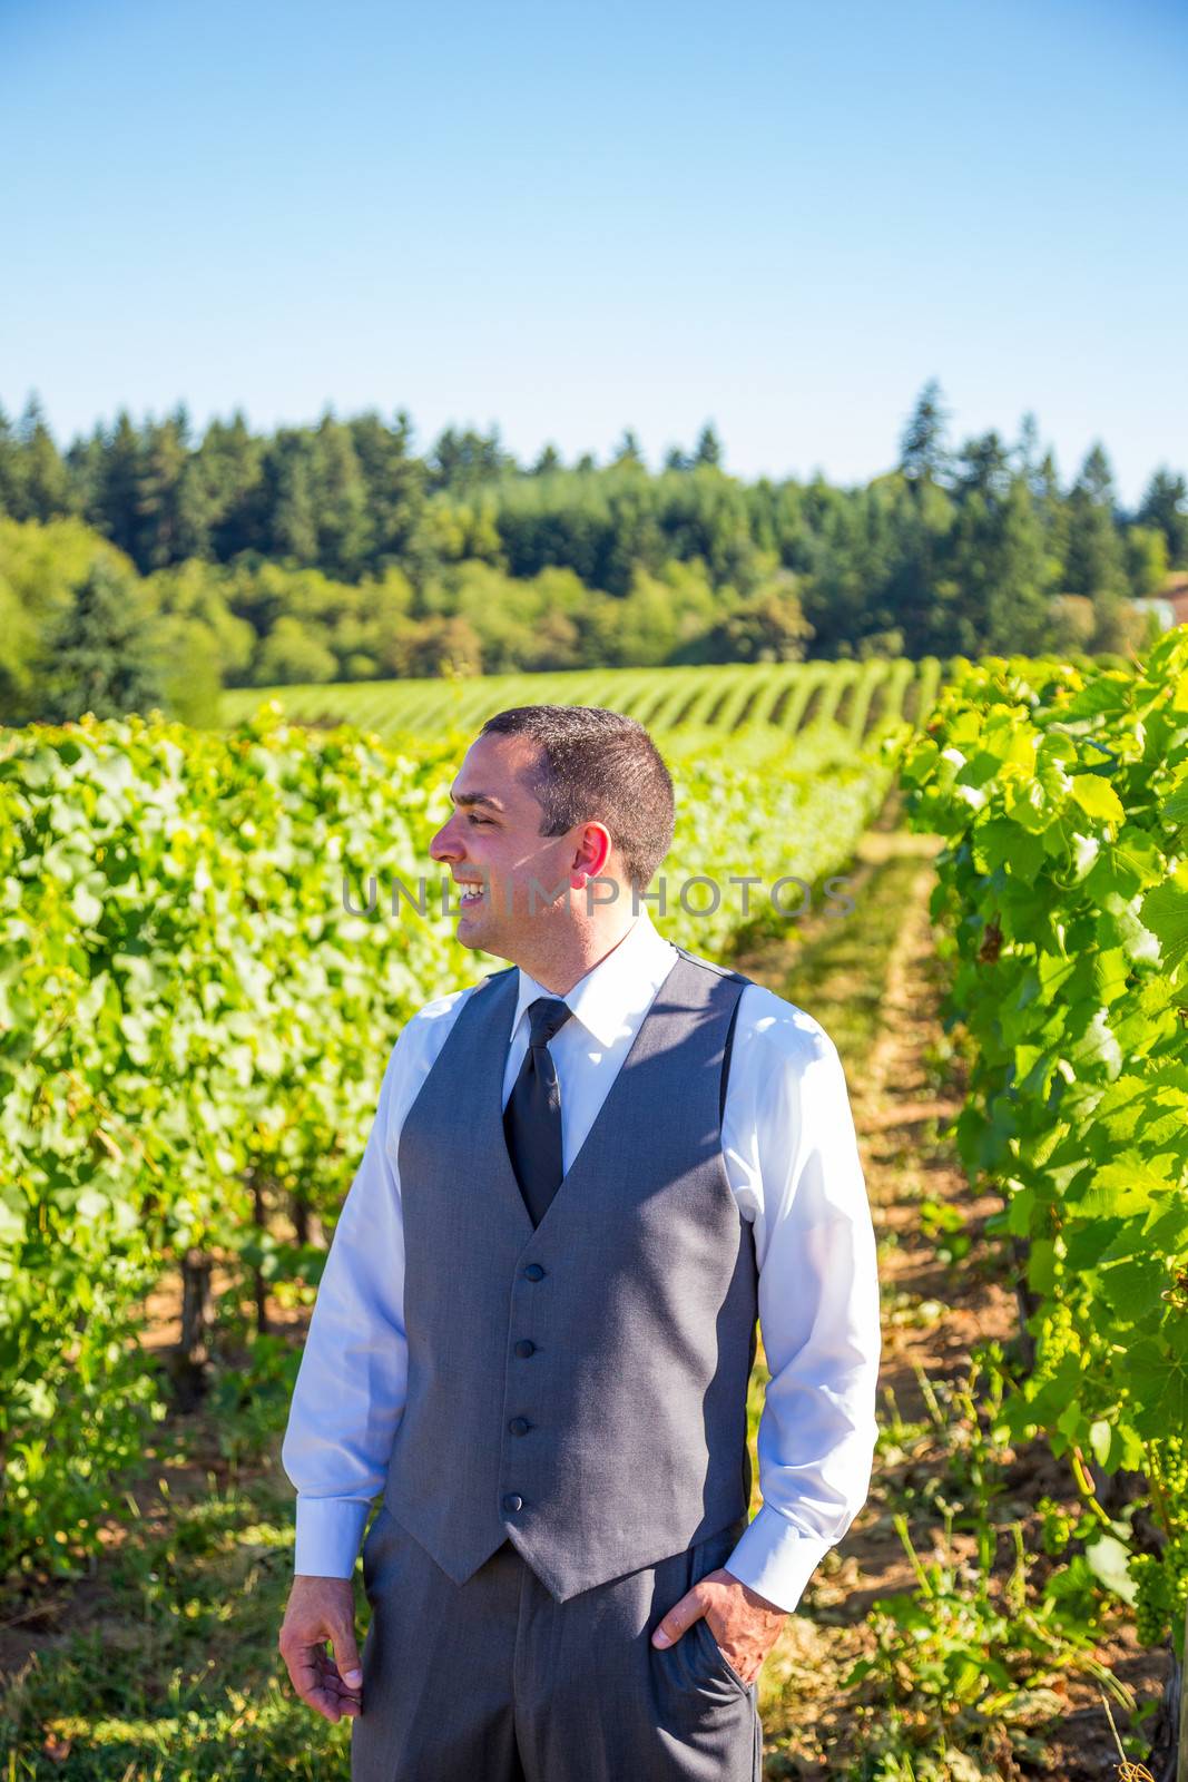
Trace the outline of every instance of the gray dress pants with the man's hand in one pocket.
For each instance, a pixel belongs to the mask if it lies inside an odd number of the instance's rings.
[[[351,1782],[761,1782],[759,1689],[709,1622],[652,1645],[745,1527],[556,1602],[511,1541],[454,1584],[381,1506]]]

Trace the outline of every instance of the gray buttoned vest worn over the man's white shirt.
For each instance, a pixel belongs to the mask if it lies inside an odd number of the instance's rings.
[[[565,1602],[748,1515],[757,1269],[721,1158],[748,982],[677,950],[536,1228],[502,1128],[515,966],[467,996],[404,1119],[383,1495],[456,1584],[511,1540]]]

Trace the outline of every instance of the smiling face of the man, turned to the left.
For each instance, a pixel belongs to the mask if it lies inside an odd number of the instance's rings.
[[[584,909],[586,893],[572,882],[581,882],[574,862],[590,825],[540,834],[543,811],[525,784],[536,754],[529,736],[477,736],[451,786],[454,811],[429,843],[460,886],[458,939],[499,959],[515,960],[524,943],[534,952],[541,925]]]

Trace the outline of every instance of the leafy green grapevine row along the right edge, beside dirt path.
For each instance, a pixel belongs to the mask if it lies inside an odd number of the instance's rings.
[[[1167,1545],[1129,1574],[1158,1641],[1188,1568],[1188,627],[1131,668],[958,661],[901,781],[944,843],[958,1148],[1026,1267],[1035,1363],[1003,1420],[1069,1458],[1090,1547],[1126,1527],[1090,1465],[1145,1475]],[[1047,1550],[1069,1534],[1049,1500]]]

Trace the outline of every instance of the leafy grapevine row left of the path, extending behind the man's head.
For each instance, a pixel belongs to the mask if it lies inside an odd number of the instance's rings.
[[[269,704],[226,732],[4,732],[0,1570],[69,1568],[126,1511],[166,1406],[141,1342],[166,1278],[192,1288],[191,1386],[226,1308],[267,1317],[265,1262],[273,1294],[308,1297],[305,1233],[333,1228],[401,1026],[502,966],[456,943],[440,898],[390,912],[395,879],[440,884],[427,845],[468,741],[303,731]],[[785,928],[764,886],[798,875],[819,907],[844,870],[892,759],[835,736],[789,754],[771,725],[671,748],[680,816],[650,905],[670,939],[718,957],[745,921],[734,895],[682,902],[695,875],[757,875]]]

